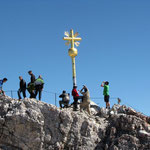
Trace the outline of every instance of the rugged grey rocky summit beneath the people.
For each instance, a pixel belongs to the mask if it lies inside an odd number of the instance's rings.
[[[92,115],[0,97],[0,150],[149,150],[150,118],[124,105]]]

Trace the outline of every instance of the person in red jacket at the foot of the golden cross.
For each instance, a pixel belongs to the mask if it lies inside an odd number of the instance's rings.
[[[73,110],[77,111],[77,106],[78,106],[78,99],[82,99],[82,96],[79,96],[78,91],[77,91],[77,86],[73,86],[72,89],[72,96],[74,99],[74,103],[73,103]]]

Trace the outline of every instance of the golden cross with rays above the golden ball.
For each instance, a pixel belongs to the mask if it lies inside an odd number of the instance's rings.
[[[79,35],[78,32],[76,32],[75,34],[73,33],[73,30],[70,30],[70,34],[68,31],[65,32],[66,37],[63,38],[63,40],[67,40],[68,42],[66,42],[66,45],[69,45],[71,43],[71,48],[74,48],[74,44],[76,46],[79,46],[79,42],[77,41],[81,41],[82,39],[80,37],[77,37]]]

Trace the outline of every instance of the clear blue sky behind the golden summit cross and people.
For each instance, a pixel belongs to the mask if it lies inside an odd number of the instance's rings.
[[[103,97],[100,84],[108,80],[111,97],[150,115],[149,0],[1,0],[4,89],[17,90],[20,75],[29,82],[32,70],[43,76],[44,90],[71,92],[69,47],[62,40],[71,28],[82,37],[76,57],[79,89],[85,84],[91,97]],[[42,99],[54,104],[53,94],[43,93]],[[105,106],[103,99],[93,101]]]

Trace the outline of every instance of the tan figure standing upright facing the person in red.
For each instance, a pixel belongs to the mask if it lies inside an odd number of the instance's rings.
[[[89,93],[89,90],[84,85],[83,88],[80,90],[80,93],[83,95],[82,102],[80,103],[80,111],[82,111],[83,109],[86,109],[88,114],[90,115],[91,111],[90,111],[90,93]]]

